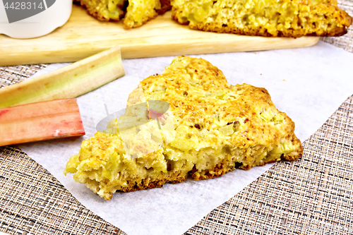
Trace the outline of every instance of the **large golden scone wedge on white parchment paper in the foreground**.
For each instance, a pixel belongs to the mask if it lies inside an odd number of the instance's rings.
[[[294,122],[267,90],[230,85],[208,61],[180,56],[140,82],[124,115],[84,140],[64,173],[109,200],[115,191],[210,179],[302,152]]]

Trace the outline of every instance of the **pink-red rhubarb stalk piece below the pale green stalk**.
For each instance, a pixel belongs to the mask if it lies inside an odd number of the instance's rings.
[[[76,99],[0,109],[0,146],[85,135]]]

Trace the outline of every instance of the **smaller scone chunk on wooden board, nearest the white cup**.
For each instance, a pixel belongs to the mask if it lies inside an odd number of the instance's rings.
[[[98,20],[119,21],[124,18],[124,28],[136,28],[148,20],[169,11],[169,0],[73,0],[87,9]]]

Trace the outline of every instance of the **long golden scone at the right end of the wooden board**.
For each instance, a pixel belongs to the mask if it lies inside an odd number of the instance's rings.
[[[340,36],[352,17],[336,0],[172,0],[172,18],[189,28],[269,37]]]

